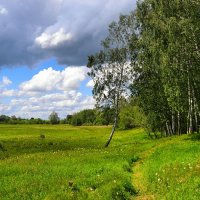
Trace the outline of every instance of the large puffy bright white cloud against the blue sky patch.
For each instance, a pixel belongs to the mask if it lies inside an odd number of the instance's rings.
[[[50,67],[40,71],[31,80],[23,82],[20,90],[26,92],[75,90],[87,78],[87,71],[86,67],[67,67],[63,71],[56,71]]]

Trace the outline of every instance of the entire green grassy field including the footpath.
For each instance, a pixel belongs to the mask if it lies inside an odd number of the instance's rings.
[[[0,199],[199,199],[198,140],[109,131],[0,125]]]

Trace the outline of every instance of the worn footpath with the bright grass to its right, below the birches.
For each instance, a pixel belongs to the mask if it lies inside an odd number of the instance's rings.
[[[133,165],[135,199],[199,200],[199,141],[183,135],[150,143]]]

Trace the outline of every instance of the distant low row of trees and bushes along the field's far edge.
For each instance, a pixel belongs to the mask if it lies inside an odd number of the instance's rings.
[[[123,103],[123,109],[120,112],[120,129],[131,129],[143,126],[145,117],[139,107],[132,100]],[[107,126],[114,123],[114,110],[106,107],[103,109],[85,109],[72,115],[67,115],[60,119],[58,113],[53,111],[48,120],[40,118],[23,119],[16,116],[0,115],[0,124],[69,124],[73,126]]]

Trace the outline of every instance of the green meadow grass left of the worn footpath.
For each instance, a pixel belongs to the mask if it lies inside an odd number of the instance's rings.
[[[105,149],[110,127],[1,125],[0,130],[0,199],[128,199],[135,193],[135,131],[118,132]]]

